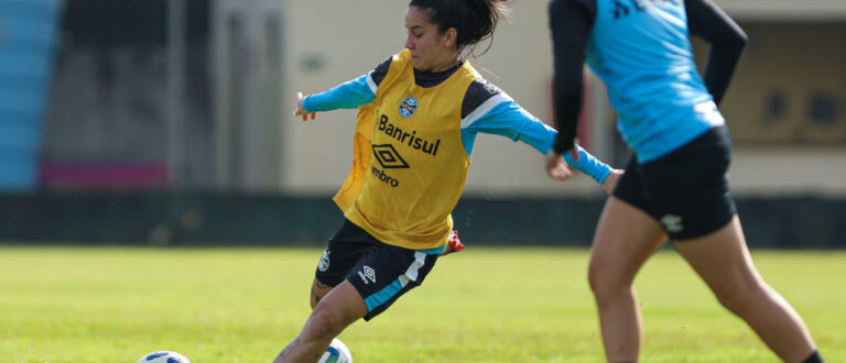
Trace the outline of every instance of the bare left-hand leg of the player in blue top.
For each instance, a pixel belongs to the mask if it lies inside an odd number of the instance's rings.
[[[599,312],[609,362],[636,362],[642,323],[631,284],[640,267],[666,241],[649,215],[610,197],[597,226],[588,279]]]

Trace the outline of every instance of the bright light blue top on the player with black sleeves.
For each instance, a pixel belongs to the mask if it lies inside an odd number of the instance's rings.
[[[683,0],[596,0],[587,64],[646,163],[725,124],[693,62]]]

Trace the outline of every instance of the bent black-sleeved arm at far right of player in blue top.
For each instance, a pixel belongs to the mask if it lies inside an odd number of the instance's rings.
[[[747,42],[744,30],[711,0],[685,0],[687,29],[711,43],[703,78],[714,102],[719,105]]]

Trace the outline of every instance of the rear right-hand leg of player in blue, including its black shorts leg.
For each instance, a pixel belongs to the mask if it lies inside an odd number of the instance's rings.
[[[676,250],[720,304],[782,360],[801,362],[814,352],[814,343],[799,315],[752,264],[729,191],[730,150],[728,131],[712,129],[643,164],[646,190]]]

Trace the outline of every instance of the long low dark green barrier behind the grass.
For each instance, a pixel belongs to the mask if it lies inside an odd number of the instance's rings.
[[[455,229],[468,245],[586,246],[604,199],[473,198]],[[752,248],[846,248],[846,199],[740,198]],[[327,197],[232,193],[0,196],[0,241],[26,244],[319,246],[343,216]]]

